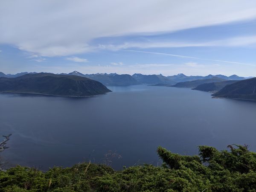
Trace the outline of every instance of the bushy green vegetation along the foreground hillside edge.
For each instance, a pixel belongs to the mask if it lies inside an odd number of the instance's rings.
[[[199,156],[158,147],[162,166],[132,166],[122,171],[90,163],[54,167],[46,173],[17,166],[0,172],[0,191],[256,192],[256,153],[247,146],[233,146],[228,146],[230,151],[199,146]]]

